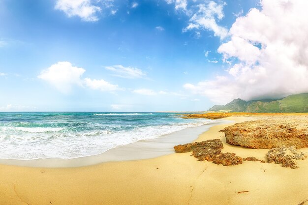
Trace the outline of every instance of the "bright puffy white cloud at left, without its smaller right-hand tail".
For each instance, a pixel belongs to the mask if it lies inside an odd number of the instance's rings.
[[[74,85],[82,86],[81,77],[85,71],[83,68],[73,66],[70,62],[62,61],[43,70],[37,77],[67,93]]]

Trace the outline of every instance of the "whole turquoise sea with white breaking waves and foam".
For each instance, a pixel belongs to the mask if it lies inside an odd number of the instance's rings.
[[[210,119],[181,113],[0,113],[0,159],[72,159],[158,138]]]

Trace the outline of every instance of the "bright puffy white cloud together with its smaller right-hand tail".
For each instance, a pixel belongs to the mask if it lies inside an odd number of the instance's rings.
[[[83,79],[84,68],[73,66],[72,63],[61,61],[43,70],[37,77],[45,80],[63,93],[69,93],[74,86],[88,87],[101,91],[121,90],[118,85],[112,85],[104,80]]]

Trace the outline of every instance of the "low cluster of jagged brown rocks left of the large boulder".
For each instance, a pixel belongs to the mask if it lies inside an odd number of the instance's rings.
[[[222,153],[222,148],[223,144],[219,139],[174,146],[176,153],[192,151],[191,156],[197,158],[198,161],[213,161],[213,163],[222,164],[223,166],[238,165],[243,163],[243,159],[236,156],[235,153]]]

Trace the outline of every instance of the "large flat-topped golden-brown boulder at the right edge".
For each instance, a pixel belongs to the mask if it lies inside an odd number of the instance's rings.
[[[308,147],[308,119],[265,118],[225,127],[226,142],[248,148],[272,149],[281,146]]]

